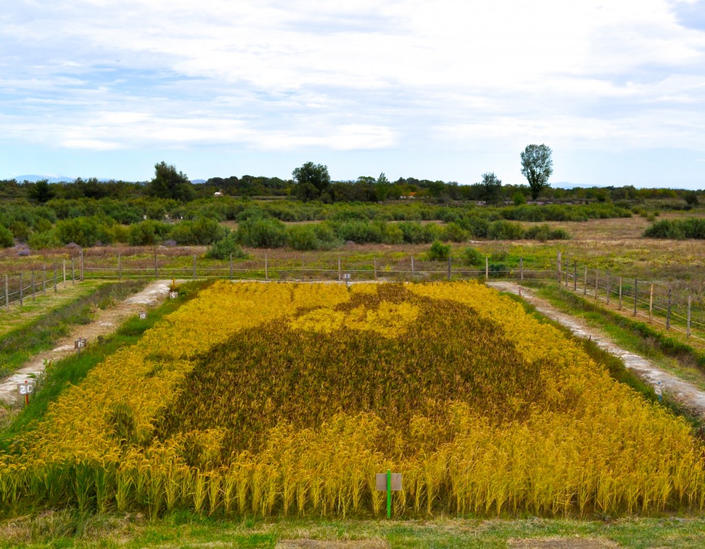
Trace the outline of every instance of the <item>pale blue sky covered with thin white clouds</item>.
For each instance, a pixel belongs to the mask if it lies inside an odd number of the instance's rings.
[[[705,188],[705,0],[14,0],[0,179]]]

